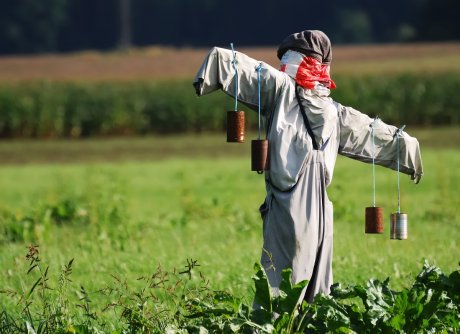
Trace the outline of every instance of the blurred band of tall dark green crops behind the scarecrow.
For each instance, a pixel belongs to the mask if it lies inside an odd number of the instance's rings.
[[[339,76],[333,98],[387,123],[459,124],[455,74]],[[435,84],[433,84],[435,83]],[[447,98],[449,97],[449,98]],[[189,81],[24,82],[0,87],[0,137],[88,137],[225,129],[223,93],[197,98]],[[257,114],[247,112],[249,128]]]

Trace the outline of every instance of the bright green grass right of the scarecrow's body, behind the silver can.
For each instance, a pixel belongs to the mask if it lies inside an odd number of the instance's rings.
[[[351,282],[388,276],[392,285],[399,286],[416,274],[422,259],[449,270],[459,264],[459,244],[454,236],[460,227],[460,201],[455,195],[460,178],[450,167],[459,162],[459,154],[457,150],[422,152],[425,176],[421,183],[414,185],[407,176],[401,177],[401,210],[409,215],[407,242],[388,237],[389,215],[397,209],[396,175],[377,168],[377,206],[384,208],[385,236],[364,235],[364,207],[372,205],[370,170],[366,165],[339,160],[330,189],[337,218],[334,239],[337,280]],[[364,177],[356,179],[356,175]],[[355,182],[350,184],[350,180]]]

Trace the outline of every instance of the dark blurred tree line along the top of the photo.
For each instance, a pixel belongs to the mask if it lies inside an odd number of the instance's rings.
[[[335,44],[460,39],[457,0],[0,0],[0,54],[276,45],[321,29]]]

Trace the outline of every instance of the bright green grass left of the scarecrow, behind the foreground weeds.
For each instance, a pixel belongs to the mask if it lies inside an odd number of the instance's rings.
[[[211,164],[214,172],[208,173]],[[199,261],[214,288],[250,293],[260,248],[255,209],[261,201],[261,192],[250,187],[258,183],[262,190],[262,184],[244,164],[208,158],[4,167],[1,184],[8,190],[0,211],[37,216],[42,205],[70,199],[91,222],[37,224],[35,237],[2,243],[0,280],[9,287],[24,285],[26,245],[34,243],[52,268],[75,258],[72,279],[92,293],[112,282],[111,275],[135,283],[159,264],[172,270],[190,258]],[[241,187],[228,187],[234,180]],[[239,192],[250,202],[236,200]],[[95,303],[102,309],[104,301]]]

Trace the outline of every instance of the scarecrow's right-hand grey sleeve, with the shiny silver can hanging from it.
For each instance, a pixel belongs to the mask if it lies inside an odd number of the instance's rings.
[[[359,111],[339,105],[339,154],[363,162],[398,169],[411,176],[415,183],[423,175],[420,146],[416,138],[381,120],[374,120]],[[373,132],[373,133],[372,133]]]

